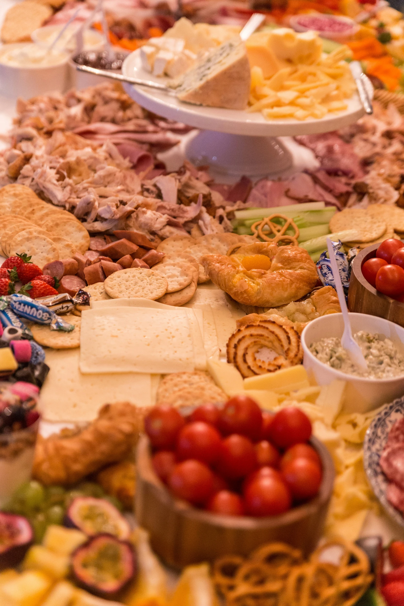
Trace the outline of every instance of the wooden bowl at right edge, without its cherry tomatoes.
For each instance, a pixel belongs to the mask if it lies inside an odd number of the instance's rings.
[[[378,247],[379,244],[372,244],[354,258],[349,281],[348,308],[349,311],[379,316],[404,327],[404,303],[377,292],[362,275],[363,263],[376,257]]]

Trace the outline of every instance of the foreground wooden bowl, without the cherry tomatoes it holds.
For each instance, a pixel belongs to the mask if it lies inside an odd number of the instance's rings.
[[[322,461],[319,494],[280,516],[251,518],[219,516],[174,498],[154,473],[150,442],[143,435],[136,452],[137,522],[150,533],[153,550],[174,568],[213,562],[228,554],[248,556],[271,541],[284,541],[307,555],[322,536],[334,484],[334,464],[328,450],[316,438],[310,442]]]

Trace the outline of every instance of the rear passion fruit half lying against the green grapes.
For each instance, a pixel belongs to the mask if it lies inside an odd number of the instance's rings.
[[[125,541],[130,535],[130,526],[118,509],[105,499],[92,496],[78,496],[71,501],[65,525],[78,528],[87,536],[112,534]]]

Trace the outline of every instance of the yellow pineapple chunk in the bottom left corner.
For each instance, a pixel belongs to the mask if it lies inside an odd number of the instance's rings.
[[[1,588],[1,594],[12,606],[39,606],[53,581],[44,573],[29,571],[19,574]],[[8,606],[8,602],[6,602]]]

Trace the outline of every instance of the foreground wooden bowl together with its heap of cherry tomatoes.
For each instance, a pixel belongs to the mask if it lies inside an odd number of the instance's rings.
[[[272,414],[248,396],[193,410],[159,405],[137,445],[137,522],[175,568],[322,536],[334,465],[299,408]]]

